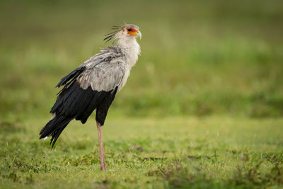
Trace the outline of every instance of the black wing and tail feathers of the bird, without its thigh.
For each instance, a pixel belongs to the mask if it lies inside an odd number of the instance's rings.
[[[81,120],[82,123],[85,123],[93,110],[112,93],[112,91],[93,91],[91,86],[84,90],[77,81],[69,88],[65,87],[59,93],[50,111],[55,115],[54,118],[40,132],[40,139],[52,136],[50,142],[52,147],[71,120]]]

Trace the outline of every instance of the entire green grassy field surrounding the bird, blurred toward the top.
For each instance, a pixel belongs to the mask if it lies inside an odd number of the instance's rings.
[[[112,25],[139,25],[141,57],[103,127],[38,133],[69,71]],[[0,188],[282,188],[283,4],[0,1]]]

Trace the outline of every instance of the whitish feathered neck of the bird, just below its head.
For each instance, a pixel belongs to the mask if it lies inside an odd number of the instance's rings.
[[[126,55],[126,63],[131,69],[136,64],[140,53],[139,43],[136,38],[121,38],[117,41],[117,46],[121,48]]]

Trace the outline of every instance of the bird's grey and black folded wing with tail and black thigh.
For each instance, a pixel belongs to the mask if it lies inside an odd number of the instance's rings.
[[[100,125],[104,124],[108,108],[125,75],[126,64],[121,57],[115,56],[108,59],[96,57],[95,60],[85,62],[57,84],[58,87],[64,85],[64,88],[50,110],[52,119],[40,132],[40,138],[52,136],[52,147],[71,120],[85,123],[95,109],[96,120]]]

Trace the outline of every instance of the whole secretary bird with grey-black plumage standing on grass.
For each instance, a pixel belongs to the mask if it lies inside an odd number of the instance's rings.
[[[100,169],[105,171],[105,156],[101,126],[104,125],[108,109],[127,82],[129,71],[136,64],[140,47],[136,37],[141,39],[139,27],[133,24],[114,26],[115,31],[104,39],[117,41],[117,45],[107,47],[59,81],[57,87],[64,86],[57,94],[50,113],[52,118],[40,131],[40,139],[52,137],[52,148],[59,135],[71,120],[85,123],[96,110],[96,125],[100,149]]]

